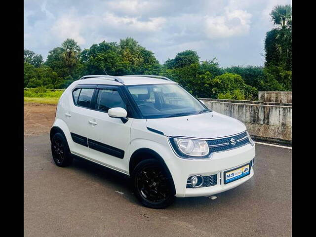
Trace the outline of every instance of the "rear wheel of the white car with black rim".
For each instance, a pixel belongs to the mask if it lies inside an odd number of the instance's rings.
[[[66,167],[73,162],[66,138],[57,132],[51,140],[51,153],[57,166]]]

